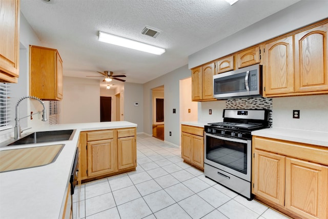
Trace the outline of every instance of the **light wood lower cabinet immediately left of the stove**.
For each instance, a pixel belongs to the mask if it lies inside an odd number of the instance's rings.
[[[183,160],[204,170],[204,129],[181,126],[181,157]]]

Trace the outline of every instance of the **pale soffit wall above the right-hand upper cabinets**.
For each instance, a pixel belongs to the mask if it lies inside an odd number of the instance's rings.
[[[328,1],[300,1],[221,41],[199,50],[188,58],[189,68],[309,25],[328,16]]]

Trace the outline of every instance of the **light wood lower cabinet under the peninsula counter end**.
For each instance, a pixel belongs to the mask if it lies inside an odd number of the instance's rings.
[[[136,128],[81,132],[80,142],[84,181],[136,168]]]

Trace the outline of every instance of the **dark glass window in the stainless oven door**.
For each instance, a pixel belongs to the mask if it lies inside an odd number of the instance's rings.
[[[247,143],[206,136],[207,160],[247,174]]]

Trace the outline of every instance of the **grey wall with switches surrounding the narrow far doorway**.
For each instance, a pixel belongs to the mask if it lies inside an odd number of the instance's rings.
[[[188,66],[182,66],[165,75],[157,77],[144,84],[144,132],[152,134],[152,90],[164,85],[164,139],[177,146],[180,145],[180,110],[179,110],[179,81],[190,77]],[[173,113],[176,109],[176,113]],[[172,136],[169,136],[169,132]]]

